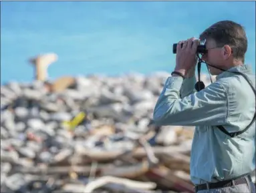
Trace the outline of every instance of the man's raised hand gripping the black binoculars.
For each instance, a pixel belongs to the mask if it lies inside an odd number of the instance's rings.
[[[181,48],[181,44],[182,48]],[[194,37],[187,41],[180,41],[177,45],[176,52],[176,67],[174,71],[187,75],[188,71],[195,69],[197,65],[197,46],[199,45],[199,39]]]

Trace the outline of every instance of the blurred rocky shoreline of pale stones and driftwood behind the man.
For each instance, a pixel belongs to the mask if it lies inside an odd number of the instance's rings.
[[[2,85],[1,192],[193,192],[194,128],[151,122],[169,76]]]

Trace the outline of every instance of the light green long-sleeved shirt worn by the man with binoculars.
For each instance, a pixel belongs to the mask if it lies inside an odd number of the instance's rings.
[[[217,80],[195,92],[195,77],[168,77],[154,108],[157,125],[196,126],[190,158],[190,178],[227,180],[255,170],[255,122],[243,134],[231,138],[228,132],[246,128],[255,114],[255,94],[241,75],[255,88],[255,75],[247,65],[233,67]]]

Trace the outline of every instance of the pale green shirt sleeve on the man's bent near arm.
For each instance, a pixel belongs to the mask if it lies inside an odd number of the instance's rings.
[[[154,107],[154,124],[217,126],[227,122],[227,97],[221,83],[215,82],[180,98],[182,77],[168,77]]]

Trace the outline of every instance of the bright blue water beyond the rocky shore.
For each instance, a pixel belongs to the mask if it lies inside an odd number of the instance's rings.
[[[226,19],[245,27],[246,63],[255,70],[253,1],[3,1],[1,84],[32,81],[27,60],[51,52],[59,59],[50,79],[171,72],[173,43]]]

